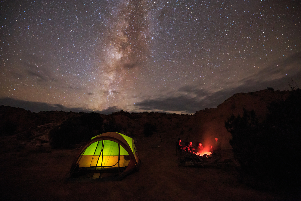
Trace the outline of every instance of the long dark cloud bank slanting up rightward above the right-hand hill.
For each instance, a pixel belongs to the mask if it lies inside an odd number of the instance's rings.
[[[285,59],[273,61],[257,74],[235,83],[223,84],[222,89],[215,92],[201,88],[200,84],[186,85],[179,88],[177,93],[160,94],[157,98],[145,99],[134,105],[140,110],[193,114],[204,108],[215,108],[235,93],[254,92],[267,87],[285,90],[289,88],[288,83],[291,80],[301,85],[300,66],[301,53],[296,53]]]

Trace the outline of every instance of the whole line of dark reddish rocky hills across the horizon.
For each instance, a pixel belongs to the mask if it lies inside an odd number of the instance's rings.
[[[287,99],[290,91],[260,90],[249,93],[237,93],[225,100],[217,108],[206,108],[194,115],[166,114],[158,112],[129,113],[119,111],[110,115],[101,115],[105,122],[114,120],[119,125],[120,132],[139,140],[146,138],[143,131],[146,124],[156,128],[153,135],[160,140],[182,142],[202,142],[209,147],[218,137],[222,148],[231,148],[231,134],[225,129],[227,118],[234,114],[242,114],[243,108],[254,110],[259,118],[267,114],[270,102]],[[76,112],[43,111],[34,113],[22,108],[0,106],[0,141],[14,139],[15,144],[24,146],[49,146],[49,132],[68,118],[82,115]],[[112,130],[113,131],[113,130]]]

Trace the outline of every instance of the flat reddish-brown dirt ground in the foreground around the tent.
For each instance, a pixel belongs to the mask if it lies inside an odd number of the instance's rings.
[[[32,152],[13,138],[1,142],[1,200],[300,200],[292,191],[253,190],[237,180],[235,163],[194,168],[178,165],[175,139],[135,142],[139,171],[122,181],[65,182],[77,150]],[[9,140],[11,139],[11,140]],[[158,148],[158,146],[161,146]],[[9,147],[9,148],[8,148]],[[222,156],[232,158],[230,150]]]

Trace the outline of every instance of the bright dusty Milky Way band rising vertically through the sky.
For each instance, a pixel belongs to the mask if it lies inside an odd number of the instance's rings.
[[[111,11],[91,83],[90,105],[96,109],[133,104],[136,71],[146,66],[150,53],[148,11],[145,1],[123,1]]]

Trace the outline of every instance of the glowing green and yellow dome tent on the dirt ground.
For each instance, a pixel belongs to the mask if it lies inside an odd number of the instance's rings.
[[[67,181],[116,181],[138,170],[134,140],[116,132],[103,133],[81,148]]]

